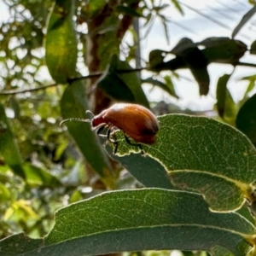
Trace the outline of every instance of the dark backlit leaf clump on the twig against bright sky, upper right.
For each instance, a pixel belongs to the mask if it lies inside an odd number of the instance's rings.
[[[199,49],[198,46],[203,46],[204,49]],[[206,38],[199,43],[194,43],[189,38],[182,38],[170,50],[170,54],[176,55],[170,61],[164,61],[166,55],[168,55],[167,51],[152,50],[149,53],[148,69],[159,73],[160,71],[189,68],[199,85],[200,95],[207,95],[210,84],[207,66],[211,63],[225,63],[236,66],[246,51],[247,45],[235,39],[216,37]]]

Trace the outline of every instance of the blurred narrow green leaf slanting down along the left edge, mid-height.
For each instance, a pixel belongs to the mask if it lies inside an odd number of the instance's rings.
[[[20,156],[20,148],[15,139],[13,131],[9,125],[9,121],[5,115],[3,106],[0,104],[0,154],[3,156],[4,162],[9,165],[13,172],[20,177],[25,177],[24,170],[20,166],[22,159]]]

